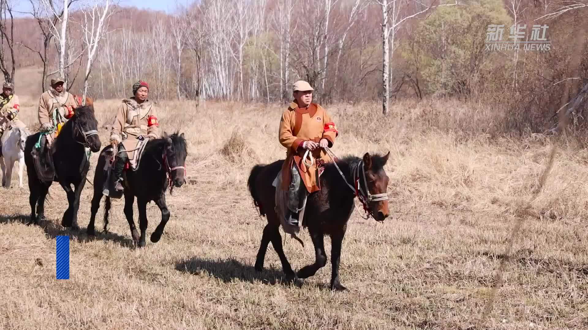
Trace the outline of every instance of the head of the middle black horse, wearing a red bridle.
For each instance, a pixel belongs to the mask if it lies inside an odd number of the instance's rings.
[[[165,147],[163,149],[163,157],[168,171],[170,184],[175,187],[182,187],[185,182],[186,174],[186,156],[188,156],[188,144],[183,133],[178,132],[168,135],[163,133],[165,140]]]

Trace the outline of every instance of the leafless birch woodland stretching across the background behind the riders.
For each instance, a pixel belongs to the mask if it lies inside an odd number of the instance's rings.
[[[476,99],[512,106],[505,130],[539,130],[588,78],[586,46],[573,48],[587,44],[586,0],[203,0],[174,14],[28,1],[28,18],[14,20],[0,2],[0,69],[9,80],[14,68],[44,68],[41,90],[59,74],[92,97],[128,97],[144,79],[155,99],[286,103],[304,79],[322,103],[378,100],[386,113],[399,98]],[[528,38],[549,25],[550,49],[490,51],[492,24],[503,41],[511,26]]]

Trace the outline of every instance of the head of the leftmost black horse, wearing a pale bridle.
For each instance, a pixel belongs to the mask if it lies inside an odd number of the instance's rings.
[[[92,152],[100,151],[102,143],[98,136],[98,120],[94,115],[94,107],[92,103],[77,107],[75,115],[69,120],[71,122],[72,135],[74,140],[83,144],[84,147],[89,147]]]

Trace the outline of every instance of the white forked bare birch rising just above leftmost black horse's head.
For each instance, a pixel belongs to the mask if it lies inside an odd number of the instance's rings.
[[[111,0],[93,0],[82,9],[82,38],[86,45],[86,72],[83,76],[82,105],[86,104],[88,95],[88,79],[92,72],[92,65],[96,56],[96,50],[108,31],[110,18],[113,14]]]

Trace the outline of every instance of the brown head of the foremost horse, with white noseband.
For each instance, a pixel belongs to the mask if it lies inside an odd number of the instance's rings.
[[[384,170],[388,157],[390,157],[390,151],[386,156],[364,154],[355,176],[356,188],[362,195],[361,198],[363,198],[369,213],[377,221],[384,221],[390,214],[386,192],[388,176]]]

